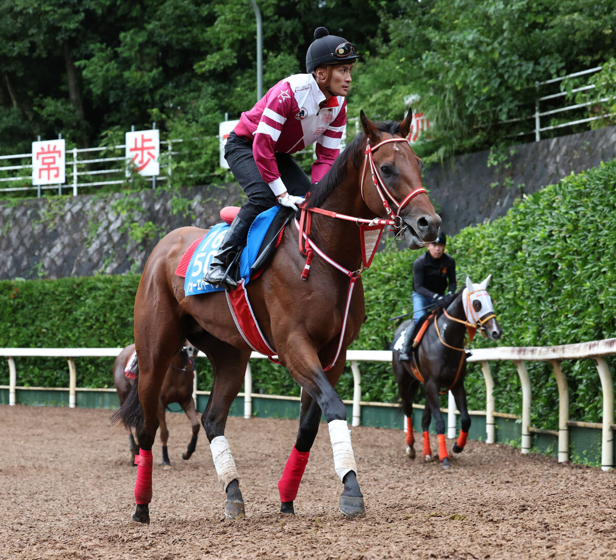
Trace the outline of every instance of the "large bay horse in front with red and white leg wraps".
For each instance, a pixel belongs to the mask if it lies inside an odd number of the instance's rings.
[[[439,230],[440,217],[423,189],[421,159],[405,139],[411,120],[411,110],[401,122],[373,122],[360,113],[363,133],[315,185],[282,233],[269,266],[246,286],[263,337],[302,388],[298,435],[278,483],[283,513],[294,513],[293,501],[323,413],[334,469],[344,485],[340,511],[348,517],[365,514],[346,408],[334,386],[344,369],[346,348],[365,317],[361,274],[370,265],[371,248],[376,248],[383,227],[393,227],[410,249],[436,239]],[[132,519],[142,523],[150,522],[158,395],[169,361],[185,338],[213,366],[213,386],[201,423],[226,493],[225,515],[245,517],[240,475],[224,433],[252,348],[225,301],[232,294],[216,291],[186,297],[184,278],[174,272],[187,248],[204,233],[197,227],[182,227],[163,237],[150,254],[137,289],[139,398],[129,396],[112,420],[138,425],[137,505]],[[144,412],[141,424],[133,416],[139,403]]]

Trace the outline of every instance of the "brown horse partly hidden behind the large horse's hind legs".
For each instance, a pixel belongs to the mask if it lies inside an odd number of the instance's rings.
[[[123,405],[132,386],[136,384],[136,374],[132,374],[131,377],[130,372],[128,375],[125,373],[126,368],[129,367],[129,360],[131,360],[134,350],[135,345],[129,344],[124,347],[113,362],[113,384],[116,388],[118,399],[120,399],[120,406]],[[185,346],[172,357],[167,373],[164,376],[160,398],[158,399],[158,421],[160,423],[160,441],[163,447],[162,465],[164,469],[171,468],[171,461],[169,460],[169,453],[167,450],[169,430],[165,420],[165,410],[170,404],[179,404],[186,413],[192,426],[192,438],[188,443],[186,451],[182,453],[182,459],[190,459],[190,456],[195,452],[195,448],[197,447],[200,425],[192,392],[193,381],[195,379],[195,362],[193,360],[197,357],[198,352],[197,348],[191,344],[185,344]],[[139,446],[137,445],[131,426],[125,425],[125,428],[129,434],[131,463],[136,466],[133,461],[135,455],[139,455]]]

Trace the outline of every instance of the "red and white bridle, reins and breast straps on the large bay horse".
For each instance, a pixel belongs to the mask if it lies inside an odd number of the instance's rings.
[[[335,269],[345,274],[349,277],[349,289],[347,290],[347,298],[346,304],[344,306],[344,319],[342,319],[342,328],[340,331],[340,339],[338,341],[338,348],[336,349],[336,355],[334,355],[334,359],[327,367],[323,368],[323,371],[329,370],[333,367],[336,360],[340,355],[340,351],[342,349],[342,341],[344,339],[344,332],[346,331],[347,318],[349,316],[349,307],[351,306],[351,297],[353,294],[353,289],[355,287],[355,283],[359,280],[362,273],[367,270],[372,264],[372,259],[375,256],[376,248],[378,246],[381,235],[383,234],[383,229],[386,225],[391,225],[397,230],[397,234],[402,232],[403,230],[403,221],[402,217],[400,217],[400,210],[404,208],[413,198],[421,193],[426,193],[426,189],[423,187],[419,187],[408,193],[406,197],[403,198],[402,202],[398,203],[395,200],[394,196],[387,189],[386,185],[379,174],[379,170],[376,168],[374,158],[372,153],[375,152],[379,147],[383,144],[387,144],[389,142],[407,142],[408,140],[405,138],[388,138],[379,142],[374,147],[370,147],[370,139],[367,139],[366,149],[365,149],[365,158],[363,160],[363,168],[362,168],[362,179],[361,179],[361,194],[362,199],[365,201],[365,197],[363,195],[363,183],[366,175],[366,169],[368,164],[370,164],[370,171],[372,174],[372,182],[375,185],[376,192],[378,192],[381,201],[383,202],[383,207],[385,208],[386,213],[389,215],[390,219],[383,218],[373,218],[366,219],[355,216],[347,216],[347,214],[340,214],[338,212],[333,212],[330,210],[325,210],[323,208],[305,208],[306,203],[300,205],[301,208],[301,216],[299,222],[297,219],[294,219],[295,227],[298,229],[298,245],[299,252],[306,256],[306,264],[304,264],[304,270],[302,270],[301,278],[302,280],[306,280],[308,274],[310,272],[310,263],[312,262],[312,258],[314,254],[318,254],[320,258],[322,258],[325,262],[333,266]],[[394,214],[391,206],[387,203],[384,194],[386,193],[387,197],[392,201],[393,205],[396,207],[397,214]],[[334,261],[334,259],[330,258],[324,251],[322,251],[315,243],[310,239],[310,228],[312,226],[312,214],[322,214],[323,216],[333,217],[335,219],[346,220],[355,222],[359,226],[360,231],[360,241],[362,245],[362,266],[360,266],[357,270],[348,270],[346,267],[342,266],[338,262]],[[406,227],[406,226],[404,226]],[[303,241],[303,242],[302,242]]]

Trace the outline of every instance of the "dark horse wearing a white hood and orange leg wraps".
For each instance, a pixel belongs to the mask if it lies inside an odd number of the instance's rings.
[[[392,367],[398,384],[398,394],[402,400],[402,410],[407,417],[407,455],[415,458],[415,436],[413,435],[413,401],[419,386],[423,383],[426,392],[426,407],[421,416],[423,431],[424,461],[432,460],[428,428],[432,416],[436,424],[439,439],[439,460],[443,468],[450,466],[447,445],[445,445],[445,421],[439,407],[440,394],[451,391],[460,411],[460,436],[453,444],[453,452],[461,453],[466,444],[468,431],[471,427],[471,416],[466,405],[464,377],[466,376],[466,351],[464,341],[467,333],[469,343],[477,328],[490,340],[498,340],[503,330],[496,320],[492,298],[487,292],[487,286],[492,275],[484,282],[473,284],[466,277],[466,288],[450,296],[444,304],[436,307],[434,312],[424,315],[415,325],[413,339],[424,323],[426,330],[421,335],[409,362],[400,360],[401,343],[404,340],[403,331],[413,328],[413,320],[403,322],[395,331],[392,343]],[[453,301],[452,301],[453,300]],[[401,338],[402,337],[402,338]]]

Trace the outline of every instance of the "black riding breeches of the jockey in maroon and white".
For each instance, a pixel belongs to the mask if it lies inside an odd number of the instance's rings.
[[[288,192],[296,197],[304,197],[312,183],[306,173],[288,153],[275,154],[280,177]],[[231,132],[225,144],[225,160],[237,179],[240,187],[248,196],[238,216],[251,224],[258,214],[276,204],[276,197],[270,186],[264,181],[253,156],[253,144]]]

